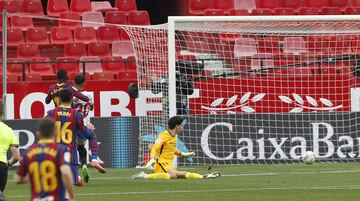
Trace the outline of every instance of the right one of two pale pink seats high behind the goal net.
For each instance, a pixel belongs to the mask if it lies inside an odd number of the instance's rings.
[[[305,53],[306,43],[302,37],[285,37],[283,41],[283,52],[285,54],[299,55]]]

